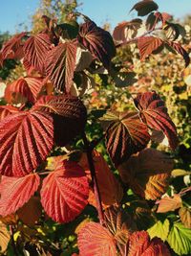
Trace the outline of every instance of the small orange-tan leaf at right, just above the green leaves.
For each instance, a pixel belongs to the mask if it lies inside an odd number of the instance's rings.
[[[181,207],[182,202],[180,195],[175,194],[173,198],[166,196],[157,201],[157,203],[159,204],[157,212],[166,213],[169,211],[175,211],[176,209],[179,209]]]

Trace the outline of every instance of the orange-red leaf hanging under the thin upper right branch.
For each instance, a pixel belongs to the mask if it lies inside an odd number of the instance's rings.
[[[140,59],[144,60],[147,56],[159,49],[159,46],[163,45],[163,41],[154,36],[142,36],[138,38],[138,49],[140,53]]]

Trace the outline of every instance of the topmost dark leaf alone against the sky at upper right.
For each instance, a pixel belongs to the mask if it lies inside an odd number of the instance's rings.
[[[149,12],[158,10],[159,6],[153,0],[142,0],[138,2],[132,9],[138,12],[138,16],[145,16]],[[130,12],[131,12],[130,11]]]

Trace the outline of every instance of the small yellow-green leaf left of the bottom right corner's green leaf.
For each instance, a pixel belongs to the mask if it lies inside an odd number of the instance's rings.
[[[163,242],[167,239],[169,233],[170,222],[166,219],[163,223],[162,221],[157,221],[152,227],[147,229],[151,239],[158,237]]]

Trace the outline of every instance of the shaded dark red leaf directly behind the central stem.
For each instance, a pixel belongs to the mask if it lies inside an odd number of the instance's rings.
[[[96,178],[98,182],[98,188],[100,191],[101,202],[105,207],[110,206],[115,203],[119,203],[123,197],[122,187],[115,177],[115,175],[110,170],[107,162],[104,160],[101,153],[98,151],[93,151],[93,159],[96,169]],[[91,181],[90,167],[88,164],[87,154],[83,153],[82,157],[78,163],[88,175],[89,180]],[[104,178],[103,178],[104,176]],[[91,190],[91,195],[89,197],[89,203],[96,206],[96,198]]]

